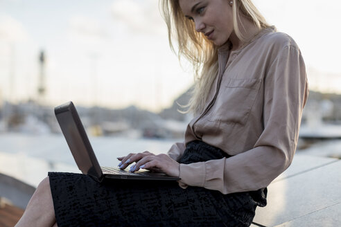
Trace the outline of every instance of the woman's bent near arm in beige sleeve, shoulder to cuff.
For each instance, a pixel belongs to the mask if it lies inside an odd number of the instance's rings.
[[[301,53],[296,46],[285,46],[265,75],[264,130],[254,148],[231,158],[180,164],[180,186],[201,186],[224,194],[268,186],[292,161],[307,96]]]

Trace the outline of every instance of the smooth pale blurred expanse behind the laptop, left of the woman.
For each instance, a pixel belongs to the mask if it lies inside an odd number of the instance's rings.
[[[102,166],[117,166],[117,157],[149,151],[161,154],[175,140],[90,137]],[[47,172],[80,172],[62,134],[0,134],[0,172],[37,187]]]

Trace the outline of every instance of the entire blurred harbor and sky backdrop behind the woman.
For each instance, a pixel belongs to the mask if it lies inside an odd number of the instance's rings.
[[[254,0],[292,36],[311,89],[297,152],[341,157],[339,1]],[[182,141],[193,74],[155,0],[0,0],[0,172],[30,185],[79,172],[53,107],[72,100],[101,165]]]

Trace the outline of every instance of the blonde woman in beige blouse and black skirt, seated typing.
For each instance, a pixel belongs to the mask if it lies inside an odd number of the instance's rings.
[[[177,183],[49,173],[17,226],[250,226],[295,153],[308,96],[297,44],[250,0],[161,0],[170,44],[197,80],[184,143],[119,158]],[[174,50],[174,48],[173,48]],[[51,190],[50,190],[51,188]]]

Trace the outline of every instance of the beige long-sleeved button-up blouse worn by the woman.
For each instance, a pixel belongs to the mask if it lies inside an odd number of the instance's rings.
[[[223,194],[265,188],[295,154],[308,97],[304,60],[295,41],[272,27],[237,51],[221,47],[218,62],[204,111],[189,122],[184,143],[173,145],[168,155],[178,161],[186,143],[202,140],[232,156],[180,164],[182,188]]]

